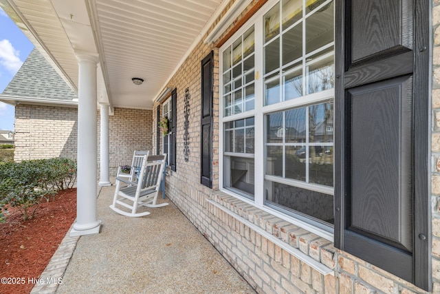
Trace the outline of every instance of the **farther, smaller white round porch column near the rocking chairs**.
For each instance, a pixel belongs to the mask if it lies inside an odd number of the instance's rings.
[[[100,104],[100,181],[99,186],[111,186],[109,178],[109,105]]]

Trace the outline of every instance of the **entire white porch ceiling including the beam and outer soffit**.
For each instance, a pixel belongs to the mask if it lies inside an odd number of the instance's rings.
[[[151,109],[214,14],[231,0],[0,0],[78,89],[75,51],[98,53],[98,101]],[[131,78],[143,78],[134,85]]]

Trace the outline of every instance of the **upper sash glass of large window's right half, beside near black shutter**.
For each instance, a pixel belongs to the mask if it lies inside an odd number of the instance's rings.
[[[305,17],[303,1],[290,0],[282,3],[281,30],[279,5],[265,14],[265,105],[289,101],[334,87],[333,1],[307,1]],[[273,91],[278,85],[274,81],[275,74],[282,75],[282,92]],[[276,94],[280,96],[277,98]]]

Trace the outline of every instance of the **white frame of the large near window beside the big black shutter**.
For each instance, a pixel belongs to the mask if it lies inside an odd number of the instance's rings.
[[[264,65],[263,65],[263,32],[264,32],[264,25],[263,25],[263,19],[266,12],[268,12],[276,3],[280,2],[280,0],[270,0],[265,3],[265,5],[260,8],[256,14],[254,14],[246,23],[243,25],[239,30],[237,30],[230,39],[225,42],[221,48],[219,48],[219,111],[220,111],[220,117],[219,117],[219,190],[223,193],[227,193],[231,196],[234,196],[236,198],[239,198],[243,202],[247,202],[248,204],[253,205],[254,207],[257,207],[263,211],[267,211],[268,213],[271,213],[272,215],[281,218],[283,220],[287,220],[288,222],[291,222],[292,224],[296,224],[299,227],[303,227],[304,229],[307,229],[307,231],[310,231],[311,233],[315,233],[316,235],[319,235],[322,238],[325,238],[327,240],[330,240],[333,242],[333,232],[334,229],[332,227],[328,226],[316,226],[314,224],[311,224],[310,222],[307,222],[301,218],[297,218],[294,216],[290,216],[286,213],[283,213],[280,210],[273,209],[271,207],[267,207],[265,202],[265,185],[261,184],[265,182],[265,179],[270,178],[270,176],[265,176],[265,115],[270,114],[273,112],[281,112],[285,109],[292,109],[296,107],[303,107],[305,105],[312,105],[317,103],[324,103],[328,102],[329,99],[334,98],[335,91],[334,88],[330,90],[325,90],[322,92],[317,92],[313,94],[308,94],[305,96],[302,96],[300,98],[295,98],[289,101],[283,101],[280,103],[272,104],[272,105],[264,105],[264,91],[265,91],[265,85],[264,85]],[[303,0],[303,7],[305,7],[306,0]],[[326,4],[330,2],[327,1]],[[254,94],[255,94],[255,100],[254,104],[255,107],[253,110],[250,110],[248,112],[241,112],[240,114],[233,114],[230,116],[223,116],[223,51],[228,48],[228,46],[232,45],[232,43],[239,38],[239,36],[243,35],[252,25],[254,25],[254,34],[255,34],[255,43],[254,43]],[[305,21],[303,21],[303,25],[305,25]],[[305,34],[303,34],[303,44],[305,43]],[[333,43],[329,44],[328,46],[334,45]],[[304,47],[303,47],[304,48]],[[311,52],[307,54],[307,56],[314,54],[314,52]],[[304,56],[305,54],[303,54]],[[282,58],[282,56],[280,56]],[[293,63],[293,62],[292,62]],[[292,64],[289,63],[289,64]],[[278,70],[281,70],[282,63],[280,63],[280,67]],[[267,76],[267,75],[266,75]],[[305,73],[303,73],[303,87],[305,87]],[[282,85],[280,85],[282,87]],[[232,121],[232,120],[239,120],[241,118],[246,118],[249,116],[254,116],[254,179],[255,179],[255,185],[254,185],[254,200],[251,200],[249,198],[245,198],[244,196],[241,196],[239,193],[234,193],[234,191],[231,191],[230,189],[225,189],[224,182],[223,182],[223,174],[224,174],[224,168],[225,168],[225,162],[223,159],[223,156],[225,155],[224,152],[224,127],[223,124]],[[240,154],[240,156],[243,156],[243,154]],[[275,178],[275,177],[274,177]],[[272,180],[272,178],[270,178]],[[279,178],[276,178],[276,181],[279,181]],[[296,181],[295,187],[305,188],[312,191],[318,191],[321,193],[326,193],[330,195],[334,195],[334,189],[332,187],[324,187],[322,185],[315,185],[310,184],[306,182],[300,182]],[[289,185],[291,185],[292,182],[289,181]]]

